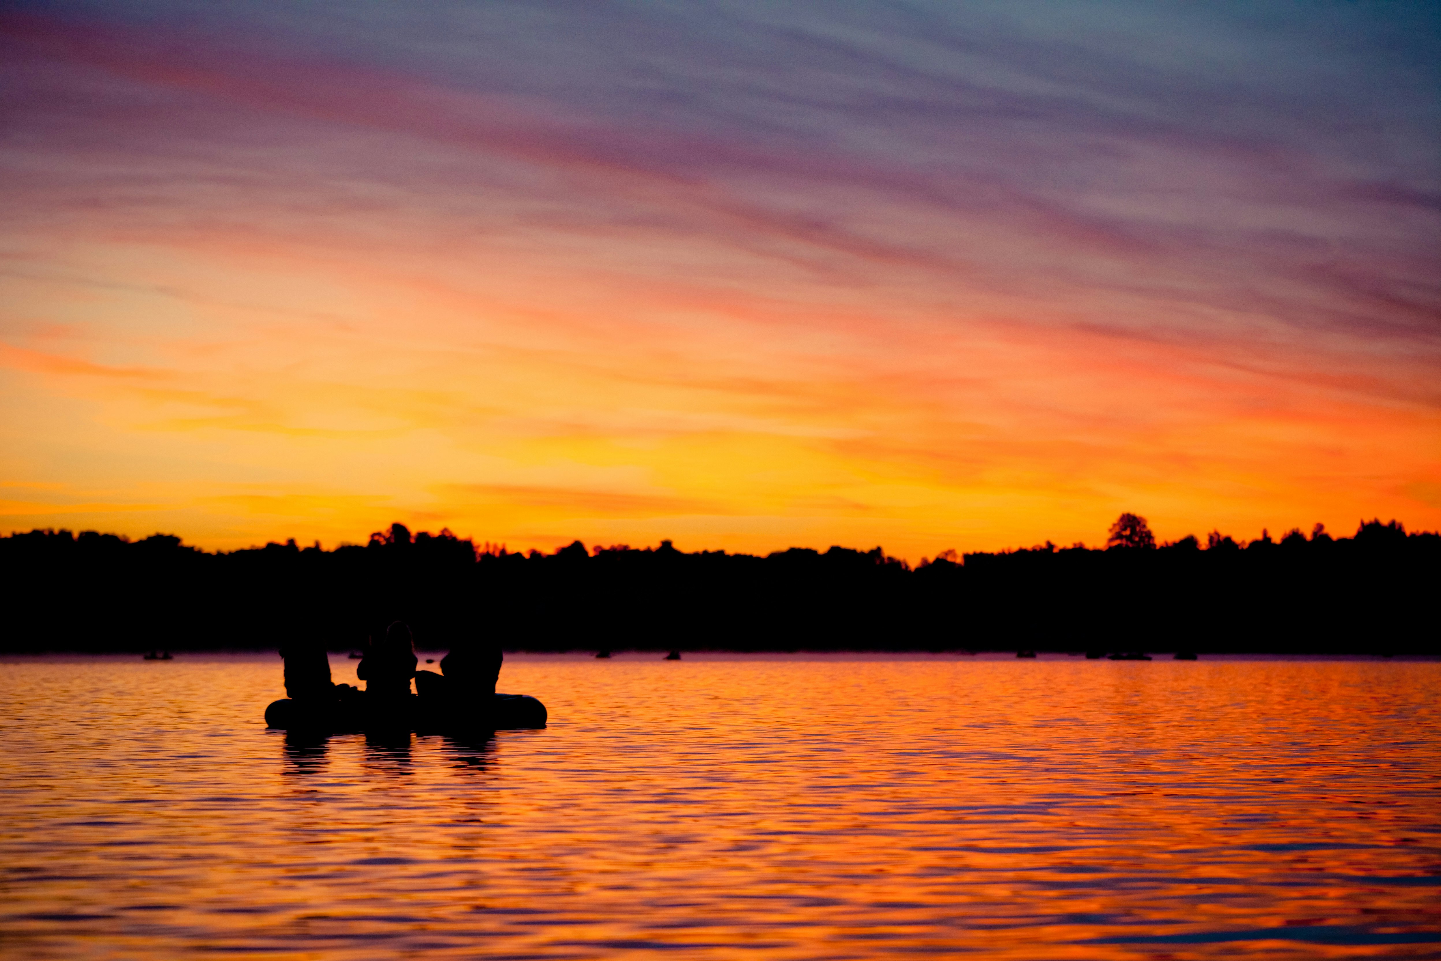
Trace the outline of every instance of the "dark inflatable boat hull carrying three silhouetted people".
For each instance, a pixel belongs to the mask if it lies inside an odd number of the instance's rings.
[[[281,697],[265,709],[265,726],[281,730],[519,730],[545,728],[545,705],[530,694],[494,694],[464,703],[416,697],[372,700],[362,692],[320,703]]]

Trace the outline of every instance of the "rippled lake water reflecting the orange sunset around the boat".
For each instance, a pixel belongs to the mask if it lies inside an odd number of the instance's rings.
[[[1441,957],[1438,663],[512,657],[487,743],[4,670],[7,958]]]

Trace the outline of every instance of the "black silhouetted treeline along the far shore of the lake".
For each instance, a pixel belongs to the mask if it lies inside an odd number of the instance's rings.
[[[206,553],[179,537],[33,530],[0,537],[7,651],[360,648],[395,620],[418,645],[509,650],[1195,650],[1438,653],[1441,536],[1317,524],[1242,546],[1156,546],[1123,514],[1107,549],[1050,543],[759,558],[659,547],[507,552],[402,524],[366,546],[294,540]]]

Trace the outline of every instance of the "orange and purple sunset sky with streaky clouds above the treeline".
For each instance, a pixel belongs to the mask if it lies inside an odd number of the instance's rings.
[[[4,530],[1441,527],[1434,3],[3,3]]]

